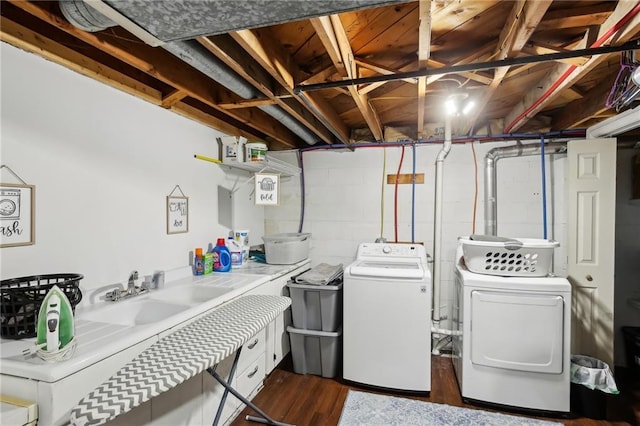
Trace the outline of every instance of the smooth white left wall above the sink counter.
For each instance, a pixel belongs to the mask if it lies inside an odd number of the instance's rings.
[[[36,186],[35,244],[0,249],[3,279],[77,272],[97,288],[188,265],[195,247],[227,236],[217,188],[237,176],[193,158],[217,157],[221,133],[8,44],[0,54],[1,162]],[[6,169],[1,178],[17,183]],[[167,235],[176,185],[189,232]],[[264,208],[251,190],[240,188],[234,211],[259,244]]]

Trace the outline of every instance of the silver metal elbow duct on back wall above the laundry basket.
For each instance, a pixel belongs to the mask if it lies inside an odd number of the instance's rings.
[[[525,157],[540,155],[542,144],[531,143],[493,148],[484,159],[484,233],[498,235],[498,180],[496,165],[501,158]],[[544,144],[545,154],[561,154],[567,152],[566,142],[552,142]]]

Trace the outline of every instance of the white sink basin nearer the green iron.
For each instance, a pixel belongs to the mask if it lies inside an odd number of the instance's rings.
[[[153,324],[189,308],[188,305],[141,298],[113,302],[103,308],[83,312],[77,319],[134,326]]]

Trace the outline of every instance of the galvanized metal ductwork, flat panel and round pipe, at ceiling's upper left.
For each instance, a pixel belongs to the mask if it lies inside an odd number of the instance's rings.
[[[237,73],[218,60],[202,45],[195,40],[183,40],[201,35],[212,35],[224,31],[239,29],[230,26],[233,21],[242,21],[243,27],[247,27],[248,22],[266,24],[276,23],[273,11],[280,10],[286,5],[287,13],[279,16],[278,22],[286,21],[289,16],[298,13],[298,17],[313,16],[314,14],[336,12],[338,6],[341,11],[362,7],[372,7],[376,4],[397,3],[397,1],[175,1],[175,2],[149,2],[149,1],[109,1],[106,2],[92,0],[85,3],[82,0],[60,0],[60,9],[67,20],[76,27],[89,32],[102,31],[112,26],[122,25],[127,30],[141,37],[145,42],[154,46],[162,46],[171,54],[177,56],[185,63],[191,65],[198,71],[207,75],[211,79],[222,84],[243,99],[253,99],[259,94],[253,86],[248,84]],[[117,6],[118,11],[114,13],[109,8],[110,5]],[[233,8],[231,8],[233,5]],[[304,5],[304,7],[303,7]],[[268,7],[267,7],[268,6]],[[96,9],[100,10],[100,12]],[[286,9],[285,8],[285,9]],[[269,9],[269,12],[265,12]],[[249,12],[250,10],[250,12]],[[221,13],[226,11],[226,13]],[[243,12],[244,11],[244,12]],[[105,16],[108,13],[109,16]],[[244,13],[247,14],[244,14]],[[135,19],[133,23],[128,18],[119,16],[119,13],[126,13],[128,17]],[[232,16],[231,16],[232,15]],[[248,18],[248,19],[247,19]],[[124,21],[123,21],[124,20]],[[142,21],[142,24],[140,23]],[[166,28],[158,22],[168,22]],[[150,25],[149,22],[152,24]],[[203,26],[203,22],[215,22],[215,25],[225,23],[223,27],[208,28]],[[153,35],[146,33],[140,25],[147,25],[145,28],[162,28],[155,31]],[[225,28],[221,30],[220,28]],[[162,40],[157,39],[162,37]],[[183,41],[170,41],[183,40]],[[166,41],[170,41],[165,43]],[[307,144],[313,145],[320,138],[311,132],[306,126],[298,122],[290,114],[277,105],[267,105],[260,107],[262,111],[281,122]]]

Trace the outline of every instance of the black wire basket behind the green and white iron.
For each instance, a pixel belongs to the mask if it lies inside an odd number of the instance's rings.
[[[4,339],[36,337],[38,313],[45,296],[57,285],[71,309],[82,300],[80,274],[49,274],[10,278],[0,283],[0,336]]]

